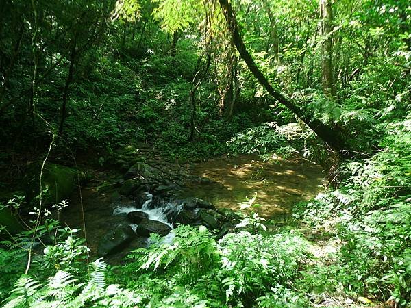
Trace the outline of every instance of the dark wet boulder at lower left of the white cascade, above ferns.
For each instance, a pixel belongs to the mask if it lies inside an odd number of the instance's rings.
[[[103,235],[97,247],[97,254],[100,257],[105,257],[110,253],[115,253],[129,244],[135,236],[132,227],[121,224]]]

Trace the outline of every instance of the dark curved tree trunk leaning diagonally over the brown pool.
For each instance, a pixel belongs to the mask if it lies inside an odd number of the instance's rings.
[[[321,138],[325,143],[331,146],[333,149],[336,149],[340,152],[341,155],[345,157],[350,157],[349,147],[347,146],[345,140],[343,139],[342,133],[337,128],[329,127],[329,125],[323,124],[319,119],[314,118],[312,114],[308,114],[306,110],[301,109],[297,106],[294,101],[284,97],[284,95],[273,88],[269,81],[264,77],[261,70],[256,66],[256,63],[253,61],[253,58],[245,48],[245,44],[242,41],[240,36],[240,31],[238,29],[238,24],[236,16],[232,9],[232,6],[229,4],[228,0],[219,0],[221,9],[227,21],[229,32],[232,36],[232,41],[240,53],[240,57],[247,64],[251,73],[256,77],[258,82],[266,89],[269,94],[286,106],[291,112],[293,112],[298,118],[300,118],[310,129],[312,129],[319,138]]]

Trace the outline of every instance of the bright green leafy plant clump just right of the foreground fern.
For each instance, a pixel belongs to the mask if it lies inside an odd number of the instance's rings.
[[[306,259],[306,244],[298,235],[264,237],[247,231],[226,235],[219,241],[222,267],[219,278],[227,302],[247,303],[250,298],[275,292],[277,284],[292,285],[301,262]]]

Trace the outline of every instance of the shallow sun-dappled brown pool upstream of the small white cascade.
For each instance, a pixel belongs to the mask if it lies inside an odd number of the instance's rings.
[[[238,210],[245,196],[258,194],[256,211],[265,218],[288,214],[292,205],[323,190],[320,166],[301,157],[264,162],[258,156],[219,157],[195,164],[192,174],[210,179],[190,183],[182,196],[197,196],[217,207]]]

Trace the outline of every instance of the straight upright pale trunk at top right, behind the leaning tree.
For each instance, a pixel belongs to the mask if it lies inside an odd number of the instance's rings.
[[[332,70],[332,5],[331,0],[320,0],[321,75],[323,91],[327,97],[336,97]]]

